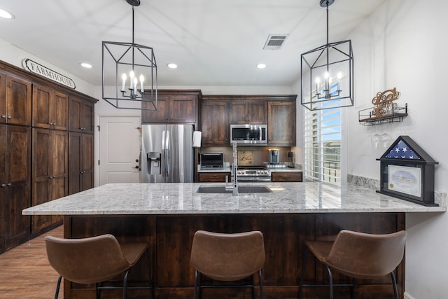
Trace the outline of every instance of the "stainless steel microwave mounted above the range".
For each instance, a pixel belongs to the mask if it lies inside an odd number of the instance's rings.
[[[267,145],[267,125],[230,125],[230,144],[237,141],[239,145]]]

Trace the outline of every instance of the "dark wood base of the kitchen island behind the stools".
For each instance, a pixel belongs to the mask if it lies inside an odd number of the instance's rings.
[[[244,232],[260,230],[265,239],[266,262],[262,268],[265,298],[297,298],[306,240],[334,240],[339,230],[385,234],[405,229],[405,213],[321,214],[181,214],[64,216],[64,237],[80,238],[111,233],[119,242],[149,242],[155,298],[193,298],[195,273],[190,249],[196,230]],[[328,273],[307,255],[304,283],[326,284]],[[147,279],[146,260],[130,272],[130,284]],[[405,262],[395,270],[398,293],[403,298]],[[390,277],[357,280],[356,298],[393,298]],[[112,283],[120,284],[120,277]],[[351,281],[337,273],[335,284]],[[255,278],[255,284],[258,279]],[[258,288],[256,289],[258,293]],[[334,288],[335,297],[349,298],[348,287]],[[122,298],[120,291],[104,292],[107,298]],[[259,294],[258,294],[259,295]],[[64,298],[94,298],[93,285],[64,281]],[[129,298],[149,298],[148,291],[129,291]],[[204,289],[203,298],[251,298],[251,289]],[[328,298],[328,286],[306,287],[302,298]]]

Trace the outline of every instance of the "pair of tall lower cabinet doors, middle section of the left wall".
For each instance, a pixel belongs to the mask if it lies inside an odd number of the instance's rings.
[[[68,195],[68,136],[66,131],[33,129],[32,205]],[[31,232],[37,234],[59,221],[61,216],[32,216]]]

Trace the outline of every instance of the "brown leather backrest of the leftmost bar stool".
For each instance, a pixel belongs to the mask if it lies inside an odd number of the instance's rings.
[[[78,284],[105,281],[130,267],[113,235],[83,239],[45,237],[50,265],[65,279]]]

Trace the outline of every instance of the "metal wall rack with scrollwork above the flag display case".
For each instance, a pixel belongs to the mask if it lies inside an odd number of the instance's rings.
[[[399,97],[400,92],[396,88],[378,92],[372,99],[372,104],[376,106],[359,111],[359,122],[362,125],[379,125],[402,121],[407,116],[407,104],[398,106],[395,101]]]

